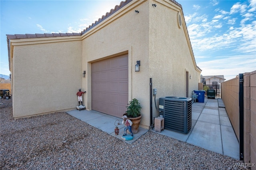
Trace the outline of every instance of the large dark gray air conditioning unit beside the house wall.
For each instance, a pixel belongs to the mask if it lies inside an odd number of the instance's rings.
[[[192,126],[192,99],[160,97],[159,111],[163,112],[164,128],[188,133]]]

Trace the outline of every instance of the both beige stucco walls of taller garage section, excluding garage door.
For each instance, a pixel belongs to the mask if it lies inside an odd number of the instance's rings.
[[[153,7],[152,3],[157,7]],[[134,12],[138,10],[139,13]],[[194,56],[188,41],[186,26],[178,28],[177,14],[180,7],[171,1],[134,1],[129,8],[123,8],[97,28],[83,36],[82,69],[88,73],[83,88],[91,91],[91,63],[128,53],[129,60],[129,100],[137,98],[142,106],[144,127],[150,126],[150,78],[159,97],[166,95],[186,97],[186,71],[194,77],[190,79],[189,94],[198,89],[200,69],[195,67]],[[104,50],[102,50],[104,49]],[[140,71],[134,71],[140,60]],[[87,109],[91,109],[91,95],[87,93]],[[154,105],[154,103],[153,103]],[[159,112],[154,107],[153,117]]]

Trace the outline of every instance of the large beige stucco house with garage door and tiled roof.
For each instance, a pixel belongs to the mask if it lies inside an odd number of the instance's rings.
[[[15,34],[7,41],[14,118],[74,109],[82,88],[86,109],[116,117],[138,99],[140,126],[150,128],[150,114],[159,116],[150,89],[157,89],[158,105],[159,97],[192,97],[200,83],[174,0],[129,0],[81,33]]]

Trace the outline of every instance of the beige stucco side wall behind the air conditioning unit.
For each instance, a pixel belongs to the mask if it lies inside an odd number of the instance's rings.
[[[158,106],[159,97],[186,97],[186,71],[192,76],[188,80],[188,97],[191,97],[192,90],[198,90],[200,72],[193,64],[184,21],[182,27],[178,27],[178,12],[182,14],[180,7],[169,0],[152,3],[156,7],[150,8],[149,69],[152,88],[157,89]],[[153,115],[159,115],[155,107]]]

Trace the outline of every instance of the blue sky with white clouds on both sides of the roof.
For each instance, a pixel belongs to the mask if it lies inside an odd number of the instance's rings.
[[[1,0],[0,74],[9,75],[6,34],[81,32],[121,0]],[[256,0],[177,0],[202,75],[256,70]]]

